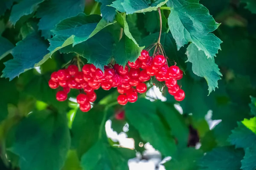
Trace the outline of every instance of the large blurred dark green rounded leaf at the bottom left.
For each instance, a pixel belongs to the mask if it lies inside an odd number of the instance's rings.
[[[66,115],[44,110],[20,122],[11,151],[20,156],[21,170],[59,170],[69,148]]]

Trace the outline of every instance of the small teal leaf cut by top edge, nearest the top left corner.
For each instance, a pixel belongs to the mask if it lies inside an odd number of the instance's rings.
[[[38,4],[44,2],[44,0],[23,0],[15,4],[12,7],[11,16],[9,18],[10,22],[15,25],[15,23],[23,16],[32,14],[37,8]]]

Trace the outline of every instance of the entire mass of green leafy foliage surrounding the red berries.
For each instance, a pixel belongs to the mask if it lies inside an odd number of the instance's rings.
[[[172,157],[166,170],[255,170],[255,23],[254,0],[0,0],[0,169],[128,170],[149,142]],[[88,113],[77,91],[58,102],[48,87],[70,63],[124,66],[158,40],[184,72],[182,111],[155,77],[146,84],[165,102],[150,89],[121,106],[99,89]],[[133,148],[108,136],[107,120],[129,127]]]

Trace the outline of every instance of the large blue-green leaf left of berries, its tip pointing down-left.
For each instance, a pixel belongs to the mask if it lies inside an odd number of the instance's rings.
[[[49,52],[47,47],[47,43],[37,34],[29,35],[24,40],[17,42],[11,52],[14,59],[4,63],[6,68],[1,77],[12,80],[21,73],[34,68]]]

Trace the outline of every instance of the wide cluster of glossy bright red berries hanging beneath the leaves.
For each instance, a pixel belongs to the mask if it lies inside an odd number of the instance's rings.
[[[83,89],[84,93],[80,93],[76,99],[81,111],[87,112],[91,108],[90,102],[96,100],[94,90],[100,87],[106,91],[117,88],[120,94],[117,102],[126,105],[128,102],[136,102],[138,93],[143,94],[147,91],[144,82],[155,76],[158,81],[165,81],[169,93],[174,95],[177,101],[181,101],[185,93],[177,85],[177,80],[183,77],[183,72],[175,65],[168,67],[166,63],[163,55],[156,55],[153,58],[149,56],[148,51],[143,50],[135,62],[128,62],[125,67],[118,64],[105,66],[104,73],[93,64],[84,65],[82,71],[79,71],[76,65],[69,65],[67,69],[52,73],[49,87],[63,88],[56,94],[58,101],[67,99],[70,88]]]

